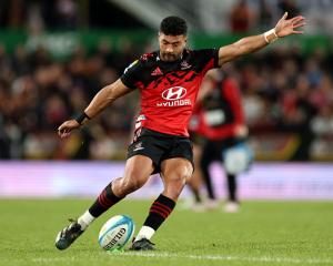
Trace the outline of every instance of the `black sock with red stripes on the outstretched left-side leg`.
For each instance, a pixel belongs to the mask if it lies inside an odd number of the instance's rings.
[[[107,212],[115,203],[120,202],[122,197],[118,197],[112,192],[112,182],[105,186],[99,197],[89,208],[89,213],[93,217],[99,217],[102,213]]]

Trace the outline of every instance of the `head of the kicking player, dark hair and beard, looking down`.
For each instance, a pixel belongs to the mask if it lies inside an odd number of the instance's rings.
[[[181,58],[188,41],[188,25],[182,18],[171,16],[162,20],[159,32],[160,57],[172,62]]]

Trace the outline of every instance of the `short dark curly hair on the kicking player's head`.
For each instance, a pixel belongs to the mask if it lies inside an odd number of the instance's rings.
[[[186,21],[182,18],[170,16],[162,20],[160,32],[164,33],[165,35],[186,35]]]

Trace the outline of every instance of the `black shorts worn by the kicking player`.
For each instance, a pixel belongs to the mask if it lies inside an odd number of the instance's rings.
[[[193,145],[185,136],[176,136],[157,131],[140,129],[128,149],[128,158],[144,155],[153,161],[154,174],[161,172],[161,163],[167,158],[183,157],[193,162]]]

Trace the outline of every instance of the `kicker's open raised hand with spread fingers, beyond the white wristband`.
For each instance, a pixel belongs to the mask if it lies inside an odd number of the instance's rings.
[[[287,12],[283,14],[281,20],[279,20],[278,24],[275,25],[276,35],[282,38],[290,34],[302,34],[303,31],[296,29],[306,24],[305,18],[303,16],[297,16],[292,19],[286,19],[286,17]]]

